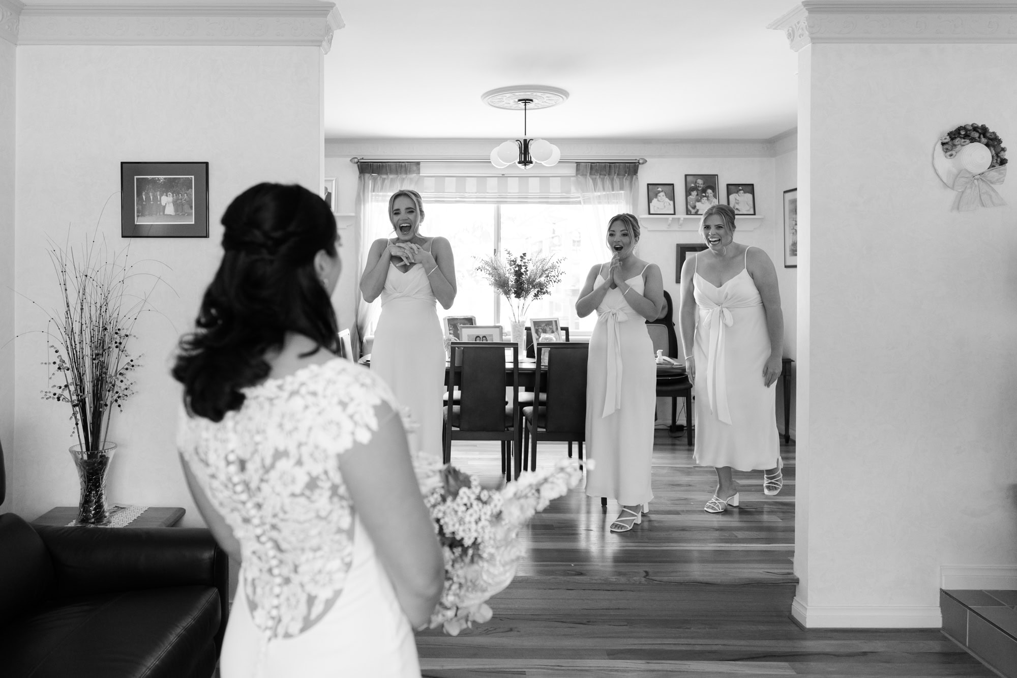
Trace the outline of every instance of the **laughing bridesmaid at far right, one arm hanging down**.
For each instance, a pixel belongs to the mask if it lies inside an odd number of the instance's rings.
[[[706,211],[700,234],[708,249],[681,268],[679,326],[696,396],[695,461],[717,470],[709,513],[738,505],[731,469],[763,470],[763,492],[783,487],[776,389],[784,317],[773,262],[734,242],[734,210]]]

